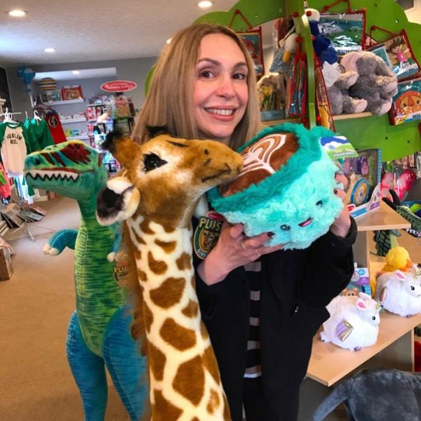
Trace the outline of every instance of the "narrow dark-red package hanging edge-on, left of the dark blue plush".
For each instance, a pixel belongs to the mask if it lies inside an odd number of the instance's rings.
[[[298,47],[295,53],[293,77],[286,85],[286,109],[288,116],[305,116],[305,104],[307,99],[307,59],[302,52],[301,39],[297,39]]]

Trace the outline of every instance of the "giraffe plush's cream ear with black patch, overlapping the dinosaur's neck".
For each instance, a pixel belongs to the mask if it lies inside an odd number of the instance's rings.
[[[126,177],[114,177],[97,196],[96,216],[100,225],[130,218],[140,203],[140,192]]]

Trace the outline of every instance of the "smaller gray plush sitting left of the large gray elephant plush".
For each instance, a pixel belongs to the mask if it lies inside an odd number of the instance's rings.
[[[367,101],[359,98],[352,98],[349,95],[349,88],[358,79],[358,73],[353,70],[347,72],[338,63],[330,65],[323,63],[323,79],[328,92],[330,111],[338,115],[342,113],[354,114],[363,112],[367,107]]]

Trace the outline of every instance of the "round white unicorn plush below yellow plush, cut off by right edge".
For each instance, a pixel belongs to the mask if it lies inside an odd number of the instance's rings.
[[[375,297],[389,312],[399,316],[421,313],[421,270],[386,272],[377,278]]]

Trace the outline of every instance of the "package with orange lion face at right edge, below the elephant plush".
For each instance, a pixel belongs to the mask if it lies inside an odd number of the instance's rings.
[[[398,83],[389,114],[395,126],[421,119],[421,79]]]

